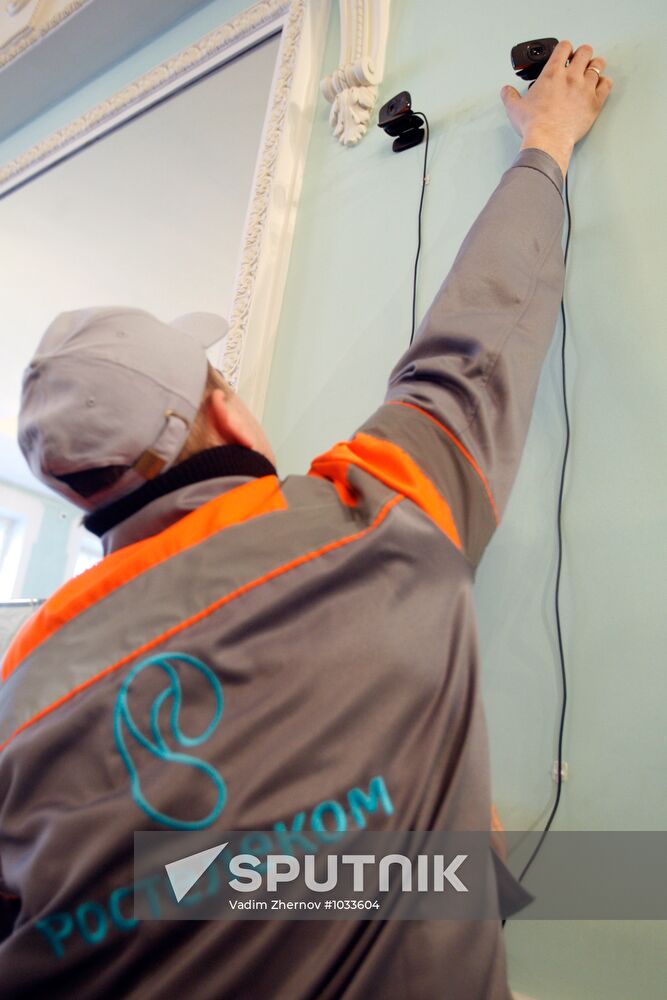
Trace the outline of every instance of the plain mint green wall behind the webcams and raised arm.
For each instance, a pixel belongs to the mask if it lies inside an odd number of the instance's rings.
[[[552,34],[590,42],[615,80],[570,173],[561,591],[570,780],[558,829],[667,828],[665,27],[666,8],[650,0],[394,2],[378,102],[408,89],[431,122],[422,314],[518,149],[498,96],[513,79],[511,46]],[[325,72],[338,47],[334,16]],[[306,471],[379,405],[410,334],[423,147],[396,156],[372,125],[344,149],[328,109],[320,97],[264,414],[281,475]],[[539,827],[554,790],[559,352],[558,333],[521,472],[476,583],[494,798],[510,829]],[[664,925],[522,922],[508,925],[507,941],[514,989],[539,1000],[664,995]]]

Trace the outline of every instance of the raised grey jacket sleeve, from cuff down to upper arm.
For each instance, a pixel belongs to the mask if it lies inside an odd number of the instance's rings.
[[[562,188],[548,153],[519,153],[391,372],[384,404],[357,431],[416,463],[473,565],[507,504],[558,316]]]

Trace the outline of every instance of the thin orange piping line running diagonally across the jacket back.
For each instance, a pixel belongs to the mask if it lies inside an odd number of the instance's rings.
[[[258,482],[259,481],[261,480],[258,480]],[[243,488],[244,488],[243,486],[238,487],[239,490],[242,490]],[[185,621],[179,622],[178,625],[174,625],[172,628],[167,629],[166,632],[162,632],[160,635],[155,636],[154,639],[151,639],[150,642],[144,643],[143,646],[139,646],[138,649],[133,649],[131,653],[128,653],[122,659],[117,660],[116,663],[112,663],[110,666],[105,667],[103,670],[100,670],[100,672],[98,674],[95,674],[94,677],[89,677],[87,680],[83,681],[77,687],[72,688],[71,691],[68,691],[67,694],[62,696],[62,698],[58,698],[57,701],[54,701],[51,705],[47,705],[46,708],[43,708],[36,715],[33,715],[31,719],[28,719],[26,722],[23,722],[17,729],[14,730],[11,736],[8,736],[3,743],[0,743],[0,751],[4,750],[5,747],[8,746],[12,742],[12,740],[14,740],[19,735],[19,733],[22,733],[25,729],[28,729],[36,722],[39,722],[40,719],[43,719],[45,716],[55,711],[56,708],[60,708],[61,705],[65,705],[68,701],[70,701],[70,699],[74,698],[74,696],[79,694],[81,691],[85,691],[86,688],[91,687],[93,684],[97,683],[97,681],[100,681],[102,680],[102,678],[107,677],[115,670],[119,670],[120,667],[124,667],[127,663],[129,663],[131,660],[134,660],[137,656],[140,656],[142,653],[149,653],[152,649],[155,649],[156,646],[159,646],[161,642],[166,642],[168,639],[171,639],[172,636],[177,635],[179,632],[182,632],[183,629],[189,628],[191,625],[196,625],[197,622],[201,621],[203,618],[208,617],[208,615],[213,614],[214,611],[217,611],[223,605],[228,604],[230,601],[233,601],[236,597],[240,597],[242,594],[247,593],[249,590],[253,590],[255,587],[260,586],[262,583],[267,583],[269,580],[273,580],[274,577],[280,576],[282,573],[286,573],[288,570],[294,569],[297,566],[301,566],[303,563],[309,562],[311,559],[316,559],[318,556],[323,555],[325,552],[330,552],[332,549],[341,548],[341,546],[343,545],[349,545],[350,542],[354,542],[359,538],[363,538],[364,535],[367,535],[370,531],[373,531],[374,528],[377,528],[378,524],[380,524],[384,520],[384,518],[387,516],[391,508],[395,506],[395,504],[400,503],[401,500],[403,500],[402,496],[395,495],[391,497],[391,499],[386,502],[384,507],[382,507],[382,509],[376,514],[375,520],[367,527],[362,528],[361,531],[357,531],[353,535],[347,535],[345,538],[338,538],[333,542],[328,542],[326,545],[323,545],[319,549],[314,549],[312,552],[306,552],[306,554],[303,556],[297,556],[296,559],[292,559],[290,562],[284,563],[282,566],[277,566],[275,569],[270,570],[263,576],[257,577],[256,580],[251,580],[249,583],[244,583],[236,590],[233,590],[229,594],[225,594],[224,597],[221,597],[218,601],[215,601],[213,604],[210,604],[207,608],[204,608],[203,611],[198,611],[196,615],[192,615]],[[217,503],[218,501],[216,500],[212,502]],[[206,504],[206,506],[208,506],[208,504]],[[203,510],[203,508],[200,507],[199,510]],[[166,530],[170,531],[171,529],[167,528]],[[137,543],[137,544],[143,544],[143,543]]]

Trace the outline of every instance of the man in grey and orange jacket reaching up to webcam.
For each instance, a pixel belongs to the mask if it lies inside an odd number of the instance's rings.
[[[385,403],[307,476],[278,479],[207,375],[210,331],[113,309],[47,331],[20,443],[107,557],[3,664],[4,996],[509,997],[498,921],[139,921],[132,834],[273,831],[289,848],[488,830],[474,569],[553,334],[563,176],[604,66],[561,42],[525,96],[503,88],[517,159]],[[163,889],[135,886],[154,917]]]

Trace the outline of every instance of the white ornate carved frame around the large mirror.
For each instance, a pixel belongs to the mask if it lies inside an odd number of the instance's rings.
[[[217,359],[261,419],[301,191],[330,0],[260,0],[10,163],[0,196],[172,91],[281,31],[253,180],[229,333]],[[285,128],[289,115],[289,128]]]

